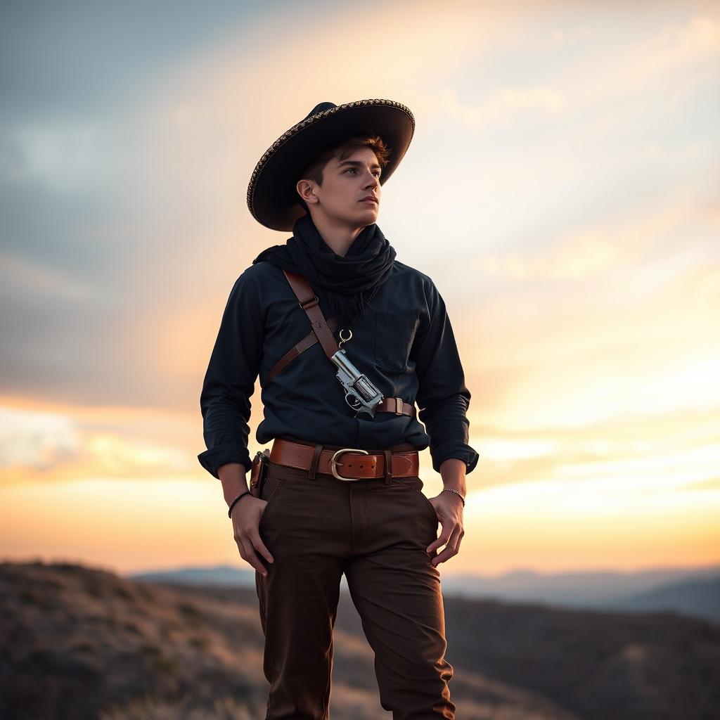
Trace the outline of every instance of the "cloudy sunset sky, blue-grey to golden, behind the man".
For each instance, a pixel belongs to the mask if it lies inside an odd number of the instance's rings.
[[[720,562],[720,3],[4,2],[0,58],[3,559],[249,569],[197,462],[230,289],[289,235],[248,179],[384,98],[417,127],[378,225],[480,453],[441,572]]]

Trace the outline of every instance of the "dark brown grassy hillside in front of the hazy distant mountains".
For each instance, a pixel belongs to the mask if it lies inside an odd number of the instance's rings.
[[[265,716],[253,589],[3,563],[0,592],[4,719]],[[693,720],[720,706],[720,629],[704,621],[460,598],[446,598],[446,619],[462,720]],[[330,707],[333,720],[390,717],[345,594]]]

